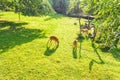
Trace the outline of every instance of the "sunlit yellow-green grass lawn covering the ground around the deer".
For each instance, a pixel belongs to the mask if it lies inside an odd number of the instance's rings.
[[[72,51],[78,34],[75,18],[55,14],[19,21],[18,14],[1,12],[0,80],[120,80],[120,50],[102,52],[84,39],[79,57],[79,48]],[[50,35],[60,45],[45,55]]]

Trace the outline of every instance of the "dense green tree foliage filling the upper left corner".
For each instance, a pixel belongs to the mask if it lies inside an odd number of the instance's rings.
[[[0,0],[0,10],[21,12],[29,16],[55,13],[48,0]]]

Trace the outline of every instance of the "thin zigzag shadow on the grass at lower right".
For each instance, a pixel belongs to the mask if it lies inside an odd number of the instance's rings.
[[[94,44],[94,43],[92,43],[92,47],[93,47],[94,52],[97,54],[97,56],[98,56],[98,58],[99,58],[100,61],[96,61],[96,60],[92,59],[92,60],[90,61],[90,63],[89,63],[89,70],[90,70],[90,71],[92,70],[92,67],[93,67],[93,64],[94,64],[94,63],[104,64],[104,61],[102,60],[100,54],[98,53],[97,48],[95,47],[95,44]]]

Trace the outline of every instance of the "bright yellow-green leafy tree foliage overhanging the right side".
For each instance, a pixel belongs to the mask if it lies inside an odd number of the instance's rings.
[[[118,35],[115,33],[120,32],[120,0],[83,0],[82,6],[84,12],[96,17],[94,23],[99,33],[98,40],[109,47],[117,45],[119,38],[115,37]]]

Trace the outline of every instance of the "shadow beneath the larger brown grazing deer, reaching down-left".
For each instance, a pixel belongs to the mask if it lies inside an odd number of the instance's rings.
[[[54,44],[54,42],[47,43],[46,50],[44,52],[44,55],[51,56],[59,47],[59,44]]]

